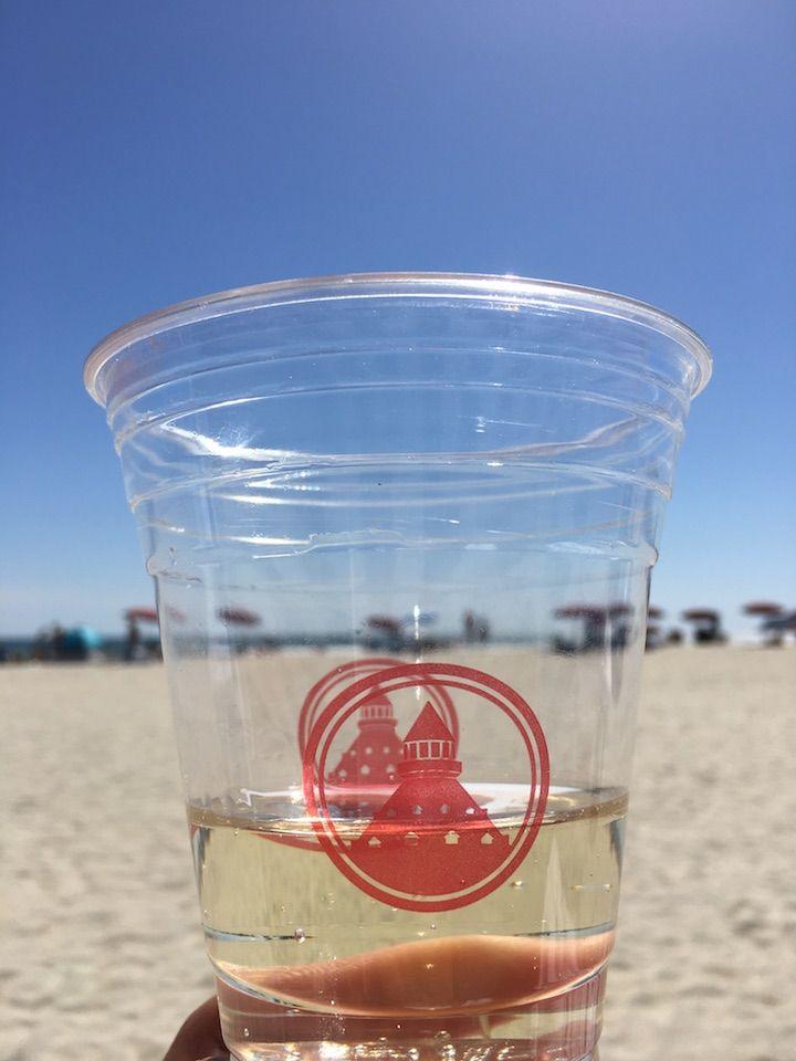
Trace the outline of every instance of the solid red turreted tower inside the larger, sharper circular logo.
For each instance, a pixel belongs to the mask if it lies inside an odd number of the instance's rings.
[[[505,861],[509,839],[459,782],[462,765],[453,755],[451,732],[427,703],[404,740],[398,787],[350,848],[375,880],[441,895],[483,880]]]

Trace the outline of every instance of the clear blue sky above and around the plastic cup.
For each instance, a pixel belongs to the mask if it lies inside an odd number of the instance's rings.
[[[653,578],[796,606],[790,0],[0,6],[0,633],[151,597],[81,365],[193,295],[513,272],[710,343]]]

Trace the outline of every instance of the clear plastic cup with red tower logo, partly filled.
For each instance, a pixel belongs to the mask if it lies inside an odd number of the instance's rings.
[[[595,1055],[709,375],[657,309],[478,275],[227,292],[92,353],[234,1057]]]

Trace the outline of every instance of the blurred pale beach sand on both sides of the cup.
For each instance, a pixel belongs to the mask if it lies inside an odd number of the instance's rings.
[[[604,1061],[796,1059],[796,652],[646,664]],[[211,990],[159,666],[6,666],[1,1061],[159,1061]]]

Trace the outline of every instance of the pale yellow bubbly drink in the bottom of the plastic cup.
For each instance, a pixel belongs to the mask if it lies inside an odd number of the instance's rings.
[[[521,789],[471,794],[495,827],[519,828]],[[315,845],[312,822],[292,815],[284,796],[248,798],[251,806],[188,808],[208,953],[237,1057],[594,1057],[624,790],[553,790],[516,872],[479,902],[440,913],[369,897]],[[355,838],[366,824],[339,831]]]

